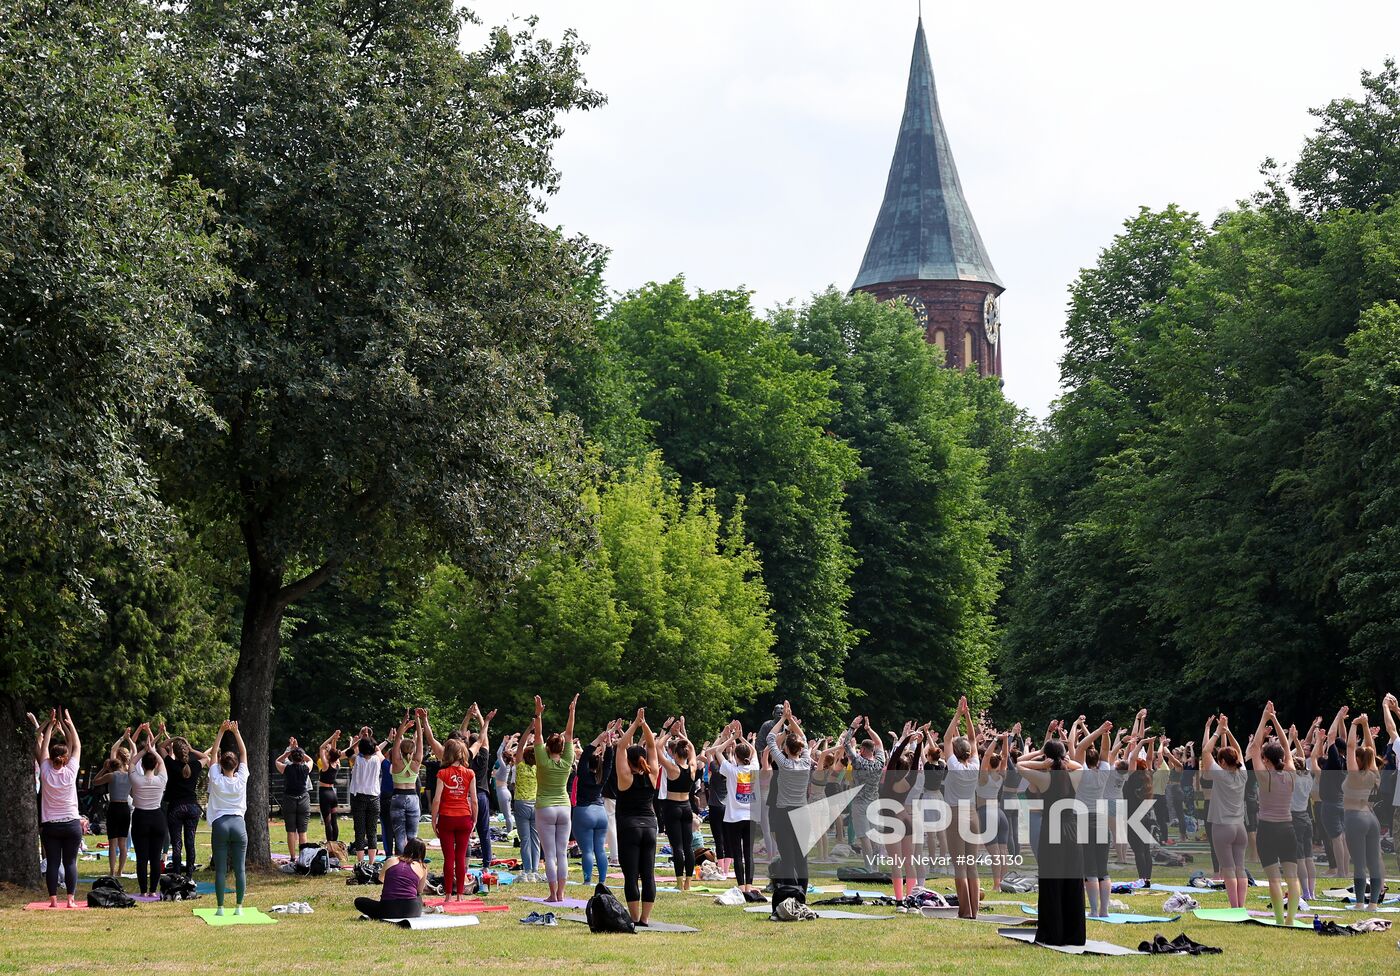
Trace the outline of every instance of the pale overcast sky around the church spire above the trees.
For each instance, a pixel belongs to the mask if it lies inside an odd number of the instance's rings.
[[[916,0],[477,0],[589,45],[599,109],[564,119],[549,220],[608,284],[683,274],[760,309],[846,290],[889,171]],[[1400,55],[1400,4],[924,4],[944,122],[998,274],[1007,395],[1058,393],[1067,290],[1138,207],[1205,220],[1296,158],[1308,108]],[[484,29],[484,28],[483,28]],[[476,31],[466,43],[477,39]]]

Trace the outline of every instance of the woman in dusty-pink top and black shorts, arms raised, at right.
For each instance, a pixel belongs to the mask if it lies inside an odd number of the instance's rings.
[[[1270,738],[1268,731],[1277,738]],[[1287,748],[1288,735],[1274,713],[1274,703],[1264,706],[1259,728],[1249,746],[1259,780],[1259,860],[1268,874],[1268,896],[1274,920],[1288,926],[1299,910],[1302,888],[1298,885],[1298,839],[1294,836],[1294,756]],[[1287,885],[1287,902],[1284,886]]]

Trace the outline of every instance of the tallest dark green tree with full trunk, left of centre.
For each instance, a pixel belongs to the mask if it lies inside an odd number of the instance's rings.
[[[192,0],[168,35],[181,172],[218,193],[237,276],[193,374],[217,423],[164,468],[246,560],[231,704],[255,762],[287,608],[342,570],[518,571],[577,521],[581,456],[545,375],[588,325],[585,242],[539,221],[581,48],[447,0]],[[266,776],[249,856],[267,863]]]

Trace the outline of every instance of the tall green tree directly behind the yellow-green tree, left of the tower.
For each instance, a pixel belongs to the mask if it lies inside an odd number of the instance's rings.
[[[829,430],[834,379],[753,314],[743,291],[685,281],[623,295],[599,325],[666,465],[743,501],[773,598],[784,699],[816,723],[846,717],[854,557],[841,508],[855,452]]]

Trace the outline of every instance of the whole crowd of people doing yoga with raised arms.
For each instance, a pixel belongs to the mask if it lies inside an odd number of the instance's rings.
[[[974,716],[966,699],[941,732],[906,723],[881,735],[857,716],[833,737],[811,735],[784,703],[759,728],[731,721],[697,746],[683,717],[654,728],[645,709],[608,723],[584,744],[575,737],[577,703],[574,696],[563,725],[552,730],[536,697],[533,720],[494,749],[496,711],[483,714],[476,704],[444,739],[427,710],[416,709],[382,739],[361,727],[344,749],[339,730],[314,755],[288,741],[273,760],[288,851],[308,843],[312,776],[325,837],[339,840],[337,784],[349,766],[349,851],[374,863],[382,847],[389,858],[382,898],[357,900],[365,914],[421,910],[423,821],[441,846],[444,896],[463,898],[473,836],[482,868],[493,863],[493,802],[518,837],[525,881],[542,879],[549,900],[561,900],[577,843],[585,882],[602,879],[609,864],[620,868],[638,926],[648,924],[657,899],[659,837],[669,844],[675,885],[689,889],[701,819],[711,836],[701,851],[708,870],[750,902],[767,900],[756,884],[759,857],[769,860],[774,900],[790,893],[805,902],[815,843],[823,856],[864,856],[867,867],[890,877],[902,907],[931,875],[948,872],[959,914],[976,917],[983,881],[997,889],[1029,847],[1039,874],[1037,940],[1051,944],[1082,944],[1086,917],[1109,913],[1110,853],[1127,863],[1131,851],[1131,884],[1151,885],[1154,851],[1191,839],[1198,825],[1231,906],[1245,906],[1246,864],[1254,863],[1267,877],[1274,914],[1291,923],[1316,896],[1319,847],[1331,877],[1351,878],[1359,905],[1375,907],[1385,896],[1382,836],[1400,801],[1393,695],[1382,700],[1383,751],[1369,717],[1345,707],[1299,732],[1268,703],[1245,744],[1225,714],[1205,721],[1200,745],[1173,744],[1149,725],[1145,709],[1126,727],[1091,727],[1079,716],[1050,723],[1037,745],[1019,724],[998,728]],[[81,739],[67,711],[55,710],[34,727],[49,899],[57,905],[62,875],[71,905],[83,839]],[[143,895],[158,891],[162,871],[193,874],[203,816],[217,910],[232,875],[239,913],[248,777],[234,721],[223,723],[203,752],[164,725],[125,730],[92,780],[109,793],[111,871],[123,872],[132,857]],[[809,818],[795,814],[839,797],[850,802],[837,804],[833,828],[805,836],[801,825]],[[1064,805],[1071,815],[1060,815]],[[850,851],[836,846],[843,842]]]

